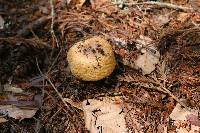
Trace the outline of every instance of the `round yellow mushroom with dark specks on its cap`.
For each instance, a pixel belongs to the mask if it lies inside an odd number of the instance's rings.
[[[67,52],[72,75],[84,81],[97,81],[109,76],[116,65],[110,43],[100,36],[77,42]]]

